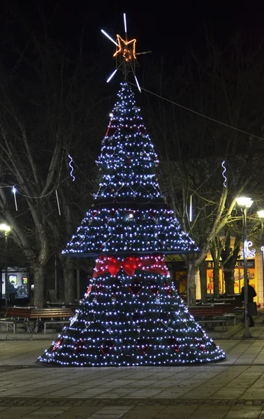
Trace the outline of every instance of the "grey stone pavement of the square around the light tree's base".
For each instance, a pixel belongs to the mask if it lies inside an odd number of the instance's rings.
[[[264,419],[263,319],[208,332],[226,360],[182,367],[45,367],[51,336],[1,333],[0,419]]]

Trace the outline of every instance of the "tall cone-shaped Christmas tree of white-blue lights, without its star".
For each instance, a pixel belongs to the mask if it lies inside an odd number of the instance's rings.
[[[63,251],[96,256],[94,276],[71,323],[39,362],[105,367],[225,358],[170,281],[164,256],[198,248],[165,203],[158,163],[133,91],[122,82],[97,162],[100,188]]]

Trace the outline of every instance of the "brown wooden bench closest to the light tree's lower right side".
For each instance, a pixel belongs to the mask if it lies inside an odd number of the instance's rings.
[[[200,325],[209,324],[213,328],[215,325],[221,324],[222,328],[227,330],[230,318],[233,318],[235,323],[236,315],[231,304],[197,305],[188,307],[188,309],[191,316]]]

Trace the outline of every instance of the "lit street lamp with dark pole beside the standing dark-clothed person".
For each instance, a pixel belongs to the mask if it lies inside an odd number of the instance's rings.
[[[251,337],[249,333],[249,284],[247,281],[247,209],[253,204],[253,200],[247,196],[235,198],[237,205],[242,210],[243,221],[243,258],[244,258],[244,336]]]

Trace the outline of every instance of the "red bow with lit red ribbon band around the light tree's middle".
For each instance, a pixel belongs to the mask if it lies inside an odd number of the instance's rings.
[[[168,275],[168,269],[162,256],[141,256],[140,258],[129,256],[123,262],[120,262],[115,256],[99,256],[96,260],[93,277],[99,277],[108,272],[112,277],[115,277],[121,267],[129,277],[133,277],[135,270]]]

